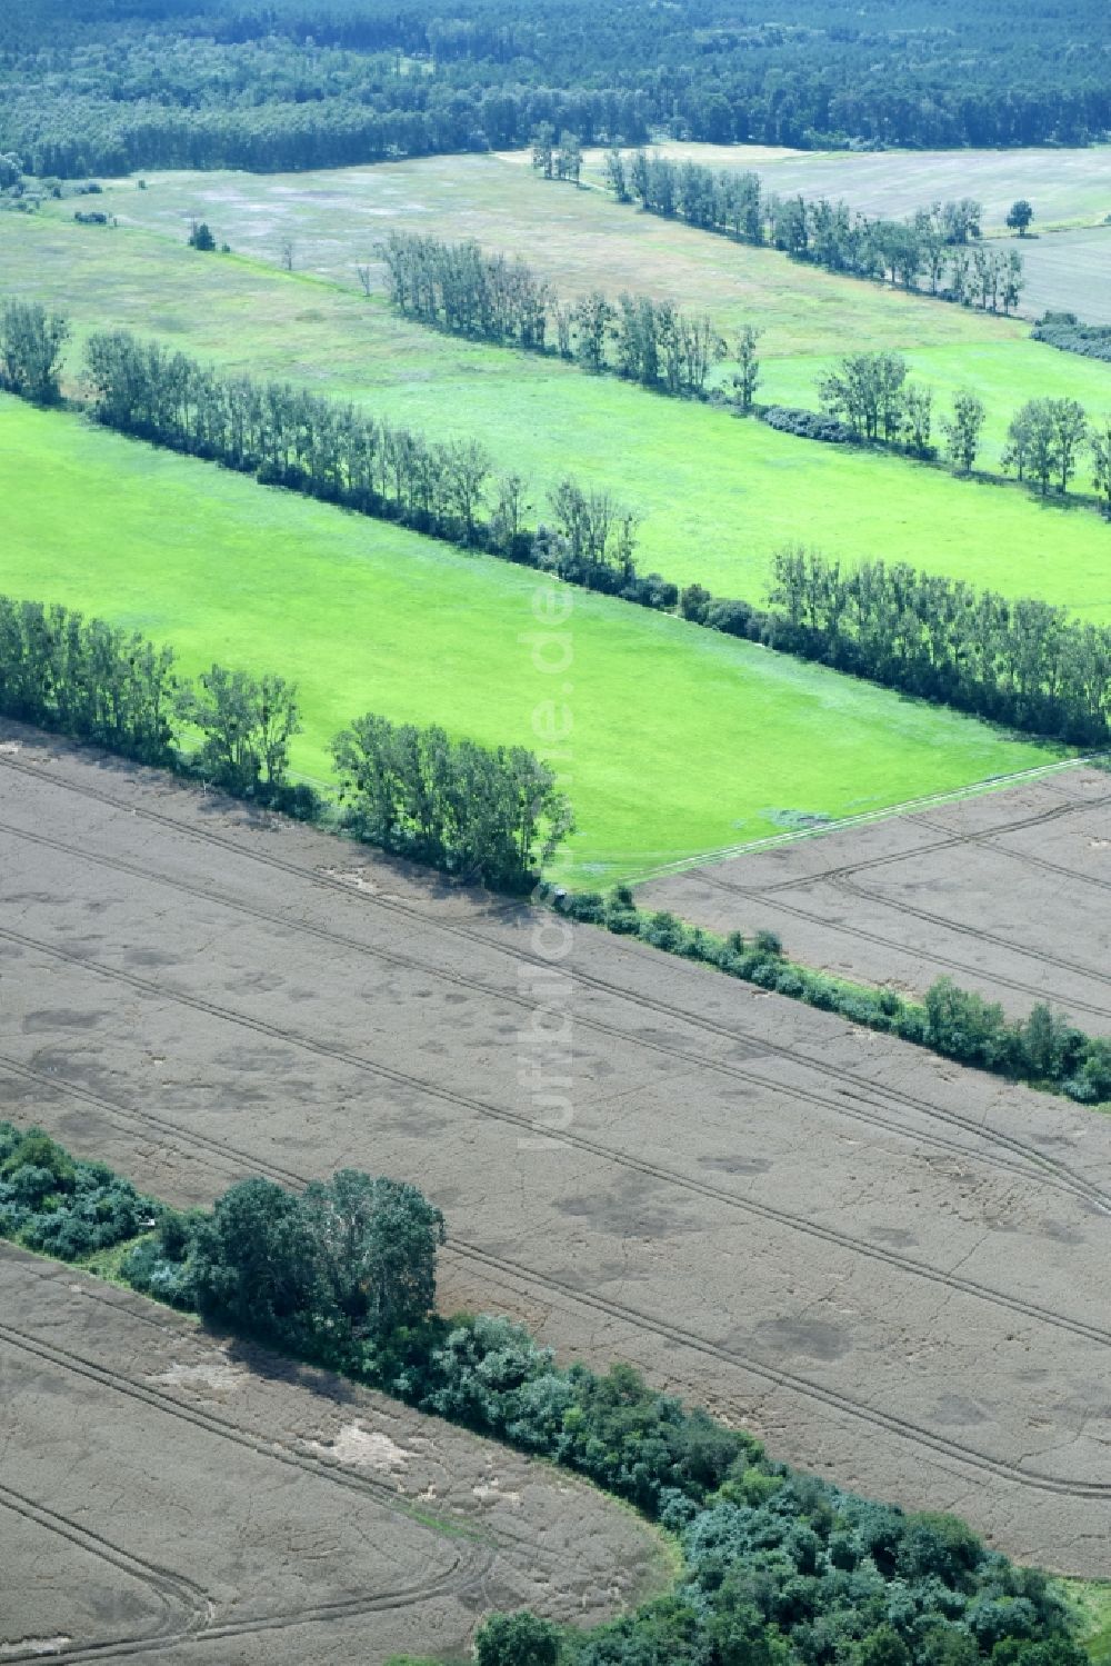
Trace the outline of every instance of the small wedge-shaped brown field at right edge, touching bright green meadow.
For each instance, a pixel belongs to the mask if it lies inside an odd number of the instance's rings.
[[[1023,786],[688,868],[638,888],[713,931],[923,995],[943,975],[1026,1016],[1111,1035],[1111,771]]]

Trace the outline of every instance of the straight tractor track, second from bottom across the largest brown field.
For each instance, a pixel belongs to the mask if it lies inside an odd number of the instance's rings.
[[[0,940],[20,943],[37,953],[43,953],[50,958],[58,958],[68,965],[77,965],[85,971],[105,976],[108,980],[117,980],[127,983],[130,988],[140,990],[143,995],[155,996],[157,1000],[168,1000],[182,1006],[190,1006],[195,1011],[202,1011],[207,1016],[217,1018],[225,1023],[240,1025],[243,1028],[253,1030],[258,1035],[265,1035],[272,1041],[280,1041],[285,1046],[296,1046],[315,1053],[321,1058],[338,1060],[343,1065],[361,1070],[371,1076],[385,1078],[395,1086],[405,1086],[416,1090],[418,1093],[426,1093],[431,1098],[446,1101],[455,1110],[465,1110],[483,1118],[493,1118],[496,1121],[510,1123],[515,1128],[525,1131],[533,1131],[535,1123],[531,1118],[511,1111],[503,1106],[490,1105],[485,1100],[475,1100],[470,1095],[456,1093],[450,1088],[438,1086],[435,1083],[423,1081],[420,1076],[411,1076],[406,1071],[398,1071],[393,1066],[383,1066],[373,1060],[365,1060],[358,1053],[350,1053],[346,1048],[333,1046],[326,1041],[311,1040],[308,1036],[298,1036],[293,1031],[283,1030],[280,1025],[267,1023],[260,1018],[248,1018],[247,1015],[237,1013],[233,1008],[220,1006],[215,1001],[208,1001],[203,996],[187,995],[183,991],[170,990],[165,985],[152,983],[148,978],[140,978],[137,973],[123,971],[120,968],[103,966],[98,961],[90,961],[83,955],[73,955],[68,950],[53,948],[50,945],[40,943],[35,938],[27,938],[23,933],[10,931],[7,926],[0,926]],[[1051,1309],[1039,1308],[1033,1303],[1021,1301],[1016,1296],[1008,1296],[1003,1291],[991,1289],[986,1284],[979,1284],[974,1279],[954,1278],[941,1268],[931,1268],[924,1263],[914,1261],[909,1256],[903,1256],[894,1250],[883,1250],[878,1245],[864,1243],[853,1238],[848,1233],[839,1233],[831,1226],[820,1226],[805,1216],[793,1215],[788,1210],[776,1208],[770,1203],[758,1203],[748,1198],[738,1198],[736,1193],[726,1191],[723,1186],[715,1186],[705,1180],[695,1180],[693,1176],[681,1175],[678,1170],[666,1168],[660,1163],[651,1163],[645,1158],[631,1156],[613,1146],[606,1146],[598,1140],[590,1140],[586,1135],[580,1133],[563,1133],[560,1135],[563,1145],[568,1145],[578,1151],[585,1151],[593,1158],[601,1158],[606,1163],[613,1163],[616,1168],[633,1171],[648,1180],[663,1181],[668,1186],[676,1188],[700,1198],[706,1198],[713,1203],[725,1205],[738,1211],[740,1215],[781,1226],[788,1231],[801,1233],[808,1238],[816,1238],[821,1243],[831,1245],[838,1250],[844,1250],[849,1254],[858,1254],[868,1261],[891,1266],[901,1273],[926,1279],[928,1283],[943,1284],[946,1289],[959,1291],[961,1294],[973,1296],[981,1301],[988,1301],[994,1306],[1009,1308],[1024,1318],[1036,1319],[1043,1324],[1053,1324],[1059,1329],[1068,1329],[1073,1334],[1083,1336],[1088,1341],[1096,1341],[1101,1346],[1111,1344],[1111,1333],[1089,1326],[1081,1319],[1068,1319],[1061,1314],[1054,1314]],[[968,1155],[968,1153],[966,1153]],[[301,1176],[300,1185],[308,1183],[308,1176]]]

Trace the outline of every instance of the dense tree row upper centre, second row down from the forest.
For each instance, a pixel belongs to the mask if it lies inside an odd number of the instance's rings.
[[[726,353],[706,313],[601,290],[565,302],[520,255],[486,255],[475,242],[391,232],[378,252],[395,307],[453,335],[533,353],[555,347],[586,370],[615,370],[685,398],[705,393],[710,368]]]

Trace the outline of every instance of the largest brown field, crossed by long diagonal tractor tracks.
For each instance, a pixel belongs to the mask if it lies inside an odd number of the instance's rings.
[[[1111,1573],[1108,1121],[5,735],[8,1116],[177,1203],[415,1181],[448,1216],[446,1309]]]

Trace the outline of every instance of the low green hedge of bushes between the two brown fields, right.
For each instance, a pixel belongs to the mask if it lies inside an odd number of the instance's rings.
[[[863,988],[796,965],[785,956],[775,931],[756,931],[751,940],[740,931],[721,938],[666,910],[643,913],[625,885],[608,896],[600,891],[553,891],[551,896],[558,911],[573,920],[636,936],[668,955],[703,961],[731,978],[839,1013],[851,1023],[913,1041],[961,1065],[1029,1081],[1083,1105],[1111,1101],[1111,1041],[1086,1036],[1044,1001],[1021,1023],[1011,1023],[999,1005],[958,988],[951,978],[938,978],[923,1001],[908,1001],[894,990]]]

